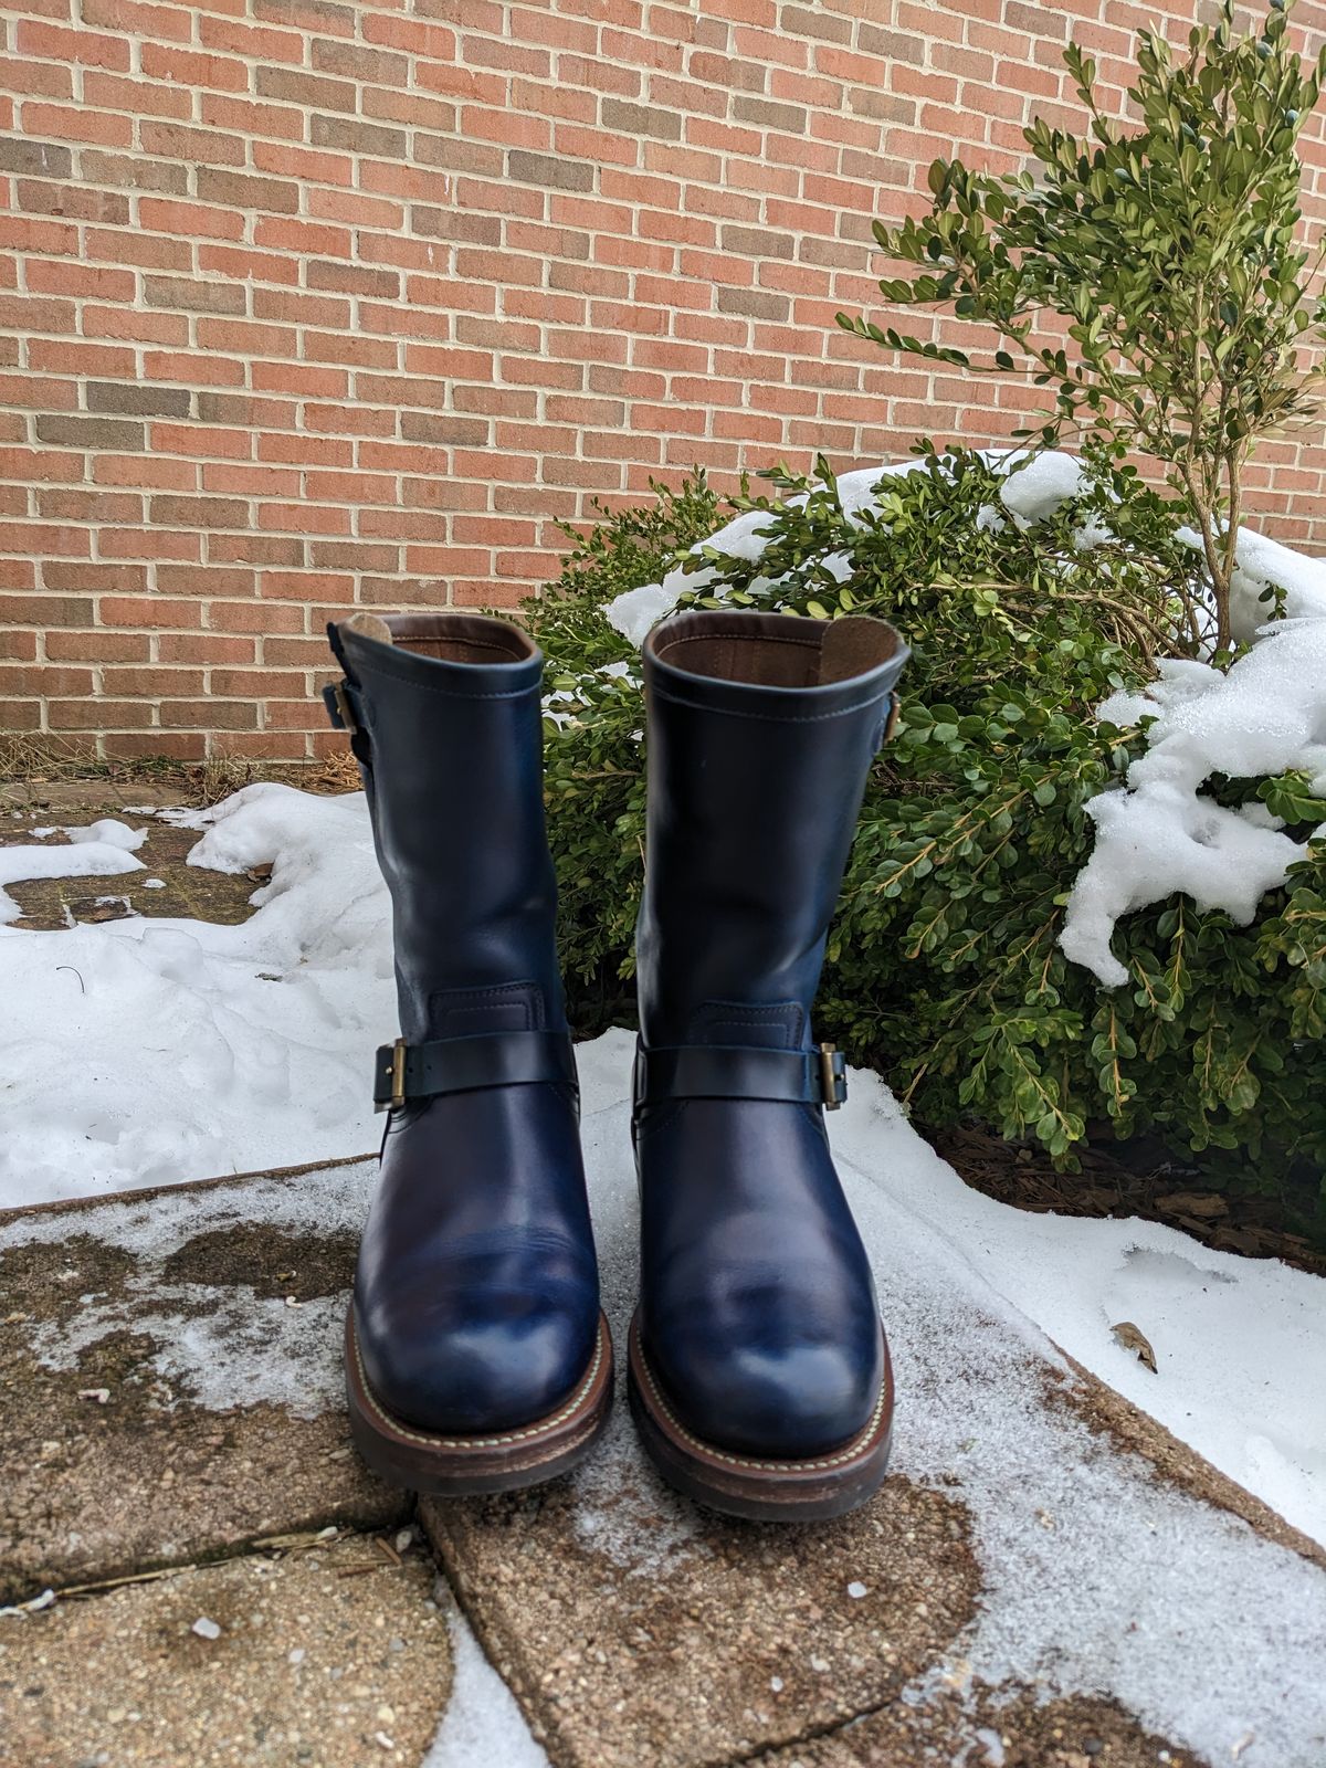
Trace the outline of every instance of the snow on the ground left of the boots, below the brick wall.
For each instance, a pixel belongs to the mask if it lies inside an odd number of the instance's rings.
[[[251,785],[193,820],[191,865],[272,865],[242,926],[0,928],[0,1208],[377,1146],[396,994],[362,796]],[[127,870],[101,840],[0,849],[0,884]]]

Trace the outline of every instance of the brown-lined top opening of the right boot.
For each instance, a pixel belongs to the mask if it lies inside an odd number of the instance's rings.
[[[868,675],[898,654],[886,621],[849,615],[810,621],[796,613],[677,613],[647,645],[661,663],[755,688],[824,688]]]

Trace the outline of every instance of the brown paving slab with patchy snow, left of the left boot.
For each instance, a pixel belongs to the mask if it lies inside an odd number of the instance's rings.
[[[0,1216],[0,1600],[410,1513],[350,1446],[373,1162]]]

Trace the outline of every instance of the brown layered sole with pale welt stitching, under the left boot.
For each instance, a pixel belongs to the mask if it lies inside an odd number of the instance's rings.
[[[373,1473],[430,1497],[518,1492],[578,1466],[612,1411],[612,1335],[599,1312],[589,1368],[546,1418],[488,1436],[442,1436],[394,1418],[373,1395],[359,1354],[354,1307],[345,1315],[345,1391],[350,1434]]]

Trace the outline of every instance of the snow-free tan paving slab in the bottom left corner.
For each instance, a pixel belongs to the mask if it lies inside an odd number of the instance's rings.
[[[451,1688],[431,1588],[352,1536],[0,1616],[0,1764],[414,1768]]]

